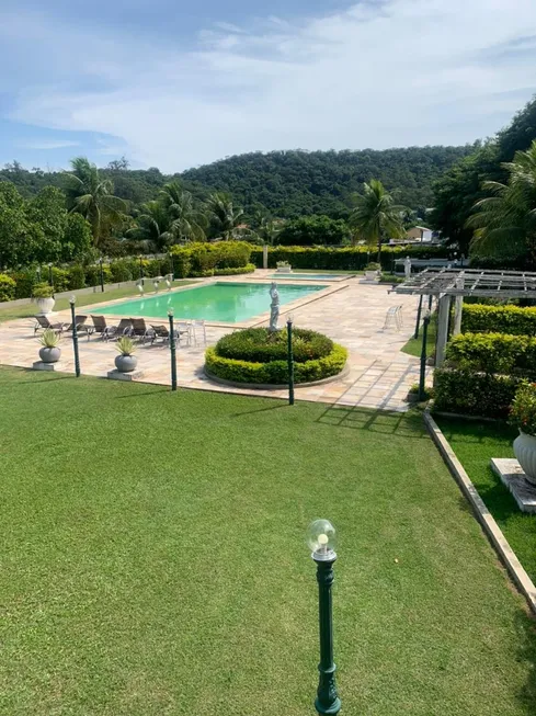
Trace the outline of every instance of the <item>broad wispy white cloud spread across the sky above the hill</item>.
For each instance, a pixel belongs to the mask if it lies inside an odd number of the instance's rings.
[[[533,0],[385,0],[277,20],[213,25],[194,50],[103,33],[68,80],[20,91],[11,117],[112,135],[135,161],[176,171],[258,149],[463,144],[536,90]],[[45,30],[64,68],[95,48],[75,27]]]

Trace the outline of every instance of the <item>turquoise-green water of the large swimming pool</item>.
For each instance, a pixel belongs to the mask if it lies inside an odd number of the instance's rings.
[[[295,286],[278,284],[281,305],[322,291],[326,286],[312,284]],[[148,316],[167,318],[173,308],[176,318],[205,319],[224,323],[238,323],[270,310],[270,284],[213,283],[205,286],[161,293],[144,298],[128,299],[113,306],[92,309],[91,314],[112,316]]]

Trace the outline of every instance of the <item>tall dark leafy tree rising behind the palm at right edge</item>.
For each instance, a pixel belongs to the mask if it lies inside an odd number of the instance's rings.
[[[482,190],[486,181],[505,182],[510,162],[516,151],[525,151],[536,139],[536,99],[518,112],[511,124],[497,136],[478,145],[476,150],[456,162],[434,186],[433,228],[443,237],[457,242],[464,253],[468,252],[474,229],[467,220],[476,202],[487,196]]]

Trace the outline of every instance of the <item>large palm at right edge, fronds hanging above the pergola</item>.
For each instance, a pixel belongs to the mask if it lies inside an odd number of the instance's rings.
[[[520,255],[536,249],[536,140],[503,163],[508,183],[487,181],[490,196],[472,207],[467,227],[475,229],[471,248],[487,254]],[[534,257],[533,257],[534,258]]]

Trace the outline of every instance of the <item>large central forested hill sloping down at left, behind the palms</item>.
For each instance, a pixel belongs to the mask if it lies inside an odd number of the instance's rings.
[[[363,182],[379,179],[397,190],[397,201],[413,209],[430,207],[432,184],[474,150],[465,147],[408,147],[383,151],[271,151],[229,157],[182,178],[197,185],[230,192],[250,213],[262,204],[274,215],[346,216],[351,195]]]

